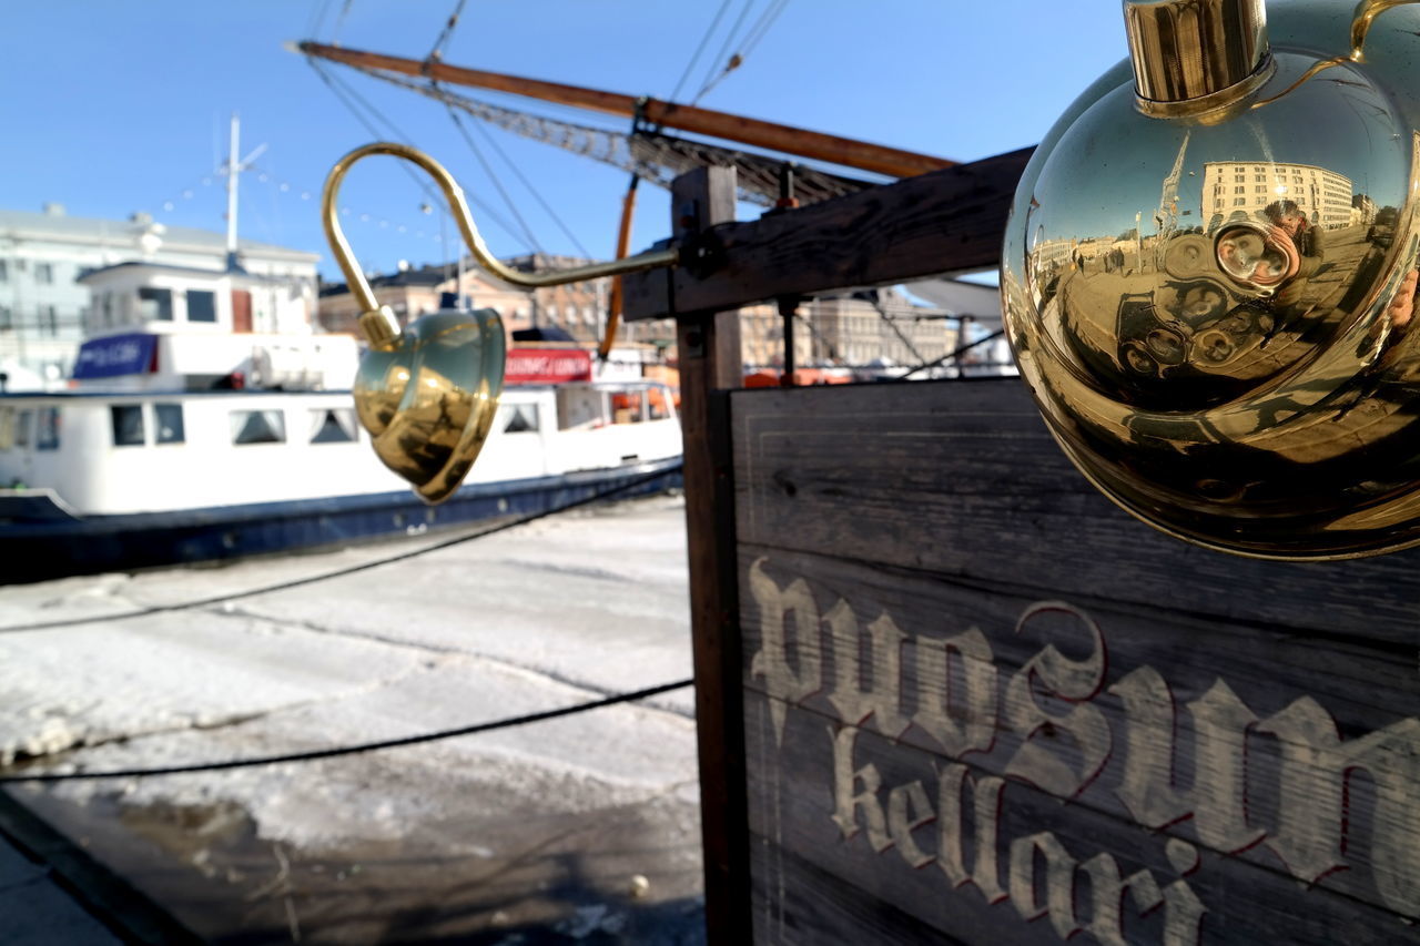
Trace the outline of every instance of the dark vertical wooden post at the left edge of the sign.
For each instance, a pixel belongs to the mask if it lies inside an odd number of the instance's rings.
[[[672,187],[672,230],[682,246],[734,220],[734,169],[699,168]],[[750,939],[750,848],[740,686],[734,491],[724,392],[741,386],[740,312],[676,318],[680,426],[684,436],[690,626],[700,746],[700,830],[706,932],[711,943]]]

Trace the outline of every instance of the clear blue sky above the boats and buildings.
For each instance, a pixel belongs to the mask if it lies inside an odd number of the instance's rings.
[[[335,276],[317,197],[331,162],[372,135],[283,43],[335,40],[422,58],[456,1],[7,4],[0,36],[6,142],[0,207],[38,210],[44,202],[60,202],[74,216],[106,219],[146,210],[163,223],[222,230],[226,203],[213,169],[224,158],[227,116],[237,111],[243,152],[267,145],[254,172],[243,176],[241,234],[321,253],[321,271]],[[743,28],[772,0],[466,0],[444,60],[666,98],[724,4],[720,28],[684,84],[686,99],[700,88],[707,60],[724,47],[746,3],[753,6]],[[1125,53],[1116,1],[788,0],[744,65],[700,104],[971,161],[1038,141],[1069,101]],[[328,68],[405,138],[444,162],[471,195],[511,220],[440,105],[342,67]],[[606,124],[555,107],[528,107]],[[609,256],[626,175],[501,131],[490,134],[577,241],[594,256]],[[503,158],[481,135],[474,139],[538,249],[579,253]],[[420,212],[426,200],[393,161],[371,159],[351,175],[341,203],[351,209],[346,232],[366,270],[390,270],[400,259],[417,264],[452,256],[435,239],[440,212]],[[514,224],[510,232],[488,214],[476,216],[494,253],[531,249]],[[643,187],[633,246],[663,236],[667,216],[662,192]],[[452,239],[453,229],[447,233]]]

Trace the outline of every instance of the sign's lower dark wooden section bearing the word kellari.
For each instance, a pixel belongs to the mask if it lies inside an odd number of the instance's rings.
[[[751,768],[757,942],[873,942],[805,922],[828,898],[849,929],[872,929],[886,905],[967,943],[1416,942],[1413,925],[1342,892],[997,783],[970,760],[934,763],[868,727],[791,707],[775,744],[771,705],[747,699],[751,751],[781,761]],[[848,793],[835,788],[845,732]]]

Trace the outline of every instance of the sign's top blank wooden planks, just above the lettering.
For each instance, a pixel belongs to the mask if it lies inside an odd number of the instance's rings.
[[[744,391],[733,411],[740,541],[1414,658],[1420,553],[1265,562],[1163,535],[1085,482],[1015,379]]]

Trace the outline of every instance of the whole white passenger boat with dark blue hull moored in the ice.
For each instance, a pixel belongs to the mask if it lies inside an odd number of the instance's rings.
[[[417,534],[679,482],[669,388],[591,381],[579,348],[524,348],[467,483],[425,506],[342,389],[355,341],[314,334],[278,280],[121,264],[84,281],[106,324],[74,388],[0,395],[0,581]],[[275,331],[293,325],[304,334]]]

